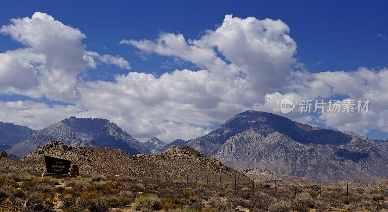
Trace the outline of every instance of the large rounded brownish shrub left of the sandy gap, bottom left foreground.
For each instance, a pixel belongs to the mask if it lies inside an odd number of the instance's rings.
[[[54,206],[54,202],[50,194],[32,192],[27,198],[26,206],[35,211],[49,211]]]

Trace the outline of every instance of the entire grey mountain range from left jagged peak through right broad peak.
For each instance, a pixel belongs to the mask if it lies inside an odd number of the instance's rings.
[[[99,118],[72,116],[32,132],[6,151],[25,156],[51,140],[72,146],[113,147],[130,154],[159,154],[177,145],[192,147],[236,170],[249,170],[250,176],[258,174],[257,170],[271,173],[266,176],[334,181],[374,180],[388,175],[387,141],[253,110],[233,116],[204,136],[170,144],[155,137],[141,143],[113,122]]]

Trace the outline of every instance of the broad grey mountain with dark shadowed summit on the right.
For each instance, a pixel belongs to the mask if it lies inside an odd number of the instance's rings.
[[[267,168],[278,176],[313,180],[374,180],[388,175],[385,141],[252,110],[188,145],[236,170]]]

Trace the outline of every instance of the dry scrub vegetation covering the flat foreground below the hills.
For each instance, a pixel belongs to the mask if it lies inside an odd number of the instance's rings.
[[[345,183],[346,186],[346,183]],[[252,184],[111,176],[77,178],[41,178],[38,173],[0,173],[0,211],[52,212],[54,206],[64,212],[325,212],[382,211],[388,209],[388,184],[353,183],[348,193],[343,184],[321,187],[300,183],[296,190],[290,182]],[[296,191],[296,195],[295,195]],[[322,196],[321,196],[322,193]],[[377,202],[379,201],[379,204]]]

